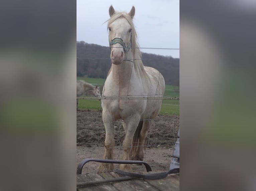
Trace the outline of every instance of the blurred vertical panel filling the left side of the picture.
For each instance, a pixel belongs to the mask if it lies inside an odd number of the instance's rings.
[[[76,1],[3,1],[0,12],[0,190],[72,190]]]

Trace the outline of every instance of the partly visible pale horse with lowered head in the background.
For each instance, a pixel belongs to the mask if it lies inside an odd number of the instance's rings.
[[[91,92],[96,97],[101,97],[100,87],[93,86],[85,81],[77,81],[77,96],[83,95],[85,92]],[[100,100],[100,99],[99,99]],[[78,108],[78,99],[77,99],[77,108]]]

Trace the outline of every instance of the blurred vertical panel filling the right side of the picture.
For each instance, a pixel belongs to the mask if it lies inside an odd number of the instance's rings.
[[[180,1],[181,190],[255,190],[255,8]]]

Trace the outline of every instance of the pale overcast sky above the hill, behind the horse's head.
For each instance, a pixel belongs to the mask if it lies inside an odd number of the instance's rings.
[[[77,0],[77,41],[109,46],[109,7],[129,12],[142,48],[179,48],[179,0]],[[104,24],[103,24],[104,23]],[[179,50],[141,49],[142,52],[179,58]]]

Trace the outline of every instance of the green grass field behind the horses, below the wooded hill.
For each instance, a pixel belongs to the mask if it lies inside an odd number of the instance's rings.
[[[103,86],[105,79],[97,78],[87,78],[87,77],[77,77],[77,80],[84,80],[95,86]],[[179,87],[172,85],[165,85],[164,96],[168,97],[179,97]],[[99,100],[90,100],[90,99],[80,99],[78,101],[79,108],[88,108],[88,109],[100,109],[101,101]],[[175,114],[179,115],[179,100],[163,100],[161,106],[161,114]]]

